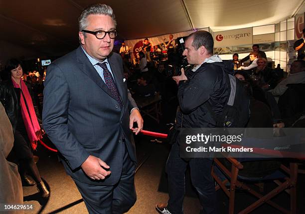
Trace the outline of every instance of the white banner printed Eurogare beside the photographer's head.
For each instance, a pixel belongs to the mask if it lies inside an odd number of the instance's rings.
[[[213,32],[214,47],[252,44],[252,27]]]

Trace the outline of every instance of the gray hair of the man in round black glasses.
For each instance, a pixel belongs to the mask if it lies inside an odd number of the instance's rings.
[[[109,15],[115,26],[117,26],[116,16],[113,12],[113,9],[106,5],[101,3],[96,3],[87,6],[83,11],[82,14],[78,18],[78,27],[79,31],[85,30],[88,27],[88,16],[92,14],[101,14],[101,15]]]

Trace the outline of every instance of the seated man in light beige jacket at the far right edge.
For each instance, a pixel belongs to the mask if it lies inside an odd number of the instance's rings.
[[[272,91],[273,96],[281,96],[288,89],[287,84],[305,83],[305,61],[298,59],[290,67],[290,74]]]

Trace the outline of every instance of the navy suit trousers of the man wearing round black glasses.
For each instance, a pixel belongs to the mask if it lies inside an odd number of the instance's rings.
[[[135,168],[135,163],[130,159],[125,145],[122,175],[116,185],[90,185],[74,179],[89,214],[123,214],[128,212],[137,200],[134,182]]]

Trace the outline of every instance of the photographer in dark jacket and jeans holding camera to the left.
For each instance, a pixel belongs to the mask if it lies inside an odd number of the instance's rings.
[[[207,31],[191,33],[185,41],[182,53],[189,64],[196,65],[173,79],[178,84],[180,111],[176,115],[176,127],[216,127],[216,118],[222,113],[229,95],[224,64],[213,55],[213,37]],[[167,163],[168,204],[156,205],[160,214],[183,214],[185,194],[185,171],[189,165],[192,185],[198,192],[203,213],[216,213],[216,193],[211,177],[212,160],[193,158],[184,160],[179,156],[178,142],[173,142]]]

